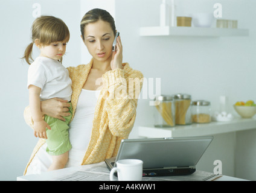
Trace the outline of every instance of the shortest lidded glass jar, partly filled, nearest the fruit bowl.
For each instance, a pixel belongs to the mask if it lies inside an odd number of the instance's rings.
[[[192,120],[196,123],[211,122],[211,103],[204,100],[193,101]]]

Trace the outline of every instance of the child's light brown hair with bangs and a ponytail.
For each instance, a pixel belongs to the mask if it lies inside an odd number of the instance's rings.
[[[54,16],[40,16],[35,19],[31,27],[32,42],[27,46],[24,57],[26,62],[31,65],[33,44],[36,39],[42,45],[50,45],[52,42],[68,42],[70,34],[66,24],[59,18]],[[60,59],[60,62],[62,59]]]

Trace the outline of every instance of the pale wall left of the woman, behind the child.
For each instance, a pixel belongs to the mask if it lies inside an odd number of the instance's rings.
[[[20,59],[30,40],[34,21],[33,4],[41,5],[42,14],[60,17],[66,22],[71,38],[63,58],[64,66],[80,64],[80,1],[0,0],[1,18],[1,135],[0,180],[22,176],[37,139],[25,124],[23,111],[28,106],[28,65]],[[72,17],[71,17],[72,16]],[[34,49],[34,57],[38,51]]]

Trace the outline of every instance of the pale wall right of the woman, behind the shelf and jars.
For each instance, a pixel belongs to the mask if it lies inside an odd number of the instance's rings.
[[[140,37],[139,27],[159,25],[160,0],[116,1],[117,27],[121,34],[124,62],[146,78],[161,78],[161,92],[189,93],[193,100],[211,101],[219,111],[219,97],[228,97],[228,111],[238,116],[232,104],[255,100],[256,16],[255,1],[178,0],[177,15],[214,11],[222,4],[223,19],[237,19],[238,28],[249,28],[245,37]],[[149,99],[139,100],[138,116],[130,138],[139,125],[153,125]]]

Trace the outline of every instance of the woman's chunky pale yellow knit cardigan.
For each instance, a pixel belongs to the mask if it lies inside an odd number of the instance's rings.
[[[128,63],[123,63],[123,66],[124,69],[107,71],[102,76],[103,87],[95,107],[91,139],[82,165],[101,162],[106,158],[117,156],[121,140],[127,139],[132,130],[143,75],[141,72],[130,68]],[[78,97],[91,68],[92,60],[88,65],[68,68],[69,77],[72,80],[73,117]],[[127,92],[124,95],[116,95],[120,90],[127,90]],[[33,128],[29,107],[24,111],[24,118],[27,124]],[[39,139],[25,168],[24,175],[43,144],[45,144],[45,139]]]

